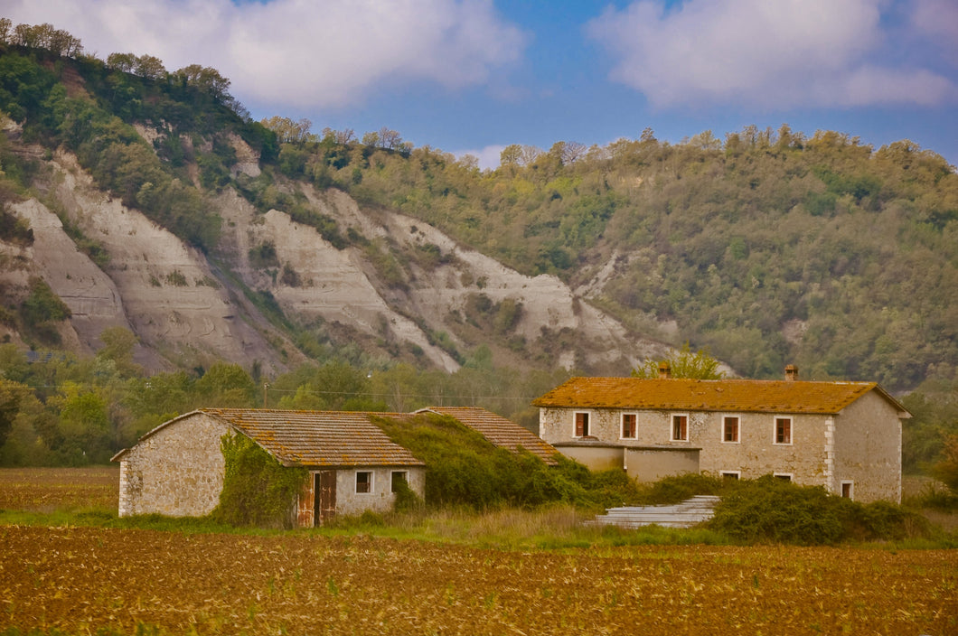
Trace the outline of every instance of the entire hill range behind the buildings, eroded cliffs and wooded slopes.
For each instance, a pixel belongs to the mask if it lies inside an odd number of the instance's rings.
[[[267,377],[337,356],[625,375],[685,340],[741,375],[893,391],[958,364],[958,175],[906,140],[647,130],[482,171],[134,66],[0,49],[7,341],[89,353],[121,327],[149,369]]]

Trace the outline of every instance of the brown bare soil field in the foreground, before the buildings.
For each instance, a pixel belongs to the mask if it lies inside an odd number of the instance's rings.
[[[302,532],[8,525],[0,555],[0,629],[23,632],[958,633],[958,555],[947,550],[514,552]]]

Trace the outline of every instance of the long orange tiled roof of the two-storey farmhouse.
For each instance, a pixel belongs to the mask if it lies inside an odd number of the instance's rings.
[[[640,379],[573,377],[533,401],[540,407],[634,408],[682,411],[752,411],[834,414],[877,390],[900,412],[904,407],[875,382],[788,380]]]

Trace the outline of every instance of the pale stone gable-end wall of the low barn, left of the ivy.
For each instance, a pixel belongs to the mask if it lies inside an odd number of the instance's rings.
[[[213,511],[223,488],[219,442],[231,430],[194,413],[151,431],[121,457],[120,516],[202,516]]]

